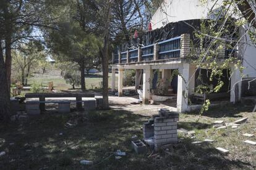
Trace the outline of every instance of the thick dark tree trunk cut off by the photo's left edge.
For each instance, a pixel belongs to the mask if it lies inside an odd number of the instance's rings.
[[[2,121],[9,121],[10,118],[10,89],[7,84],[6,65],[4,64],[4,55],[2,53],[2,46],[0,44],[0,119]]]

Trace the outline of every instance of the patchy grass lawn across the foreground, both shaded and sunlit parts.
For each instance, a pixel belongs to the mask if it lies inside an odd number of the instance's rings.
[[[169,154],[160,150],[150,156],[136,155],[130,147],[130,137],[142,139],[143,122],[149,117],[124,110],[73,112],[67,115],[45,113],[28,122],[0,125],[0,169],[255,169],[256,148],[244,144],[245,132],[255,134],[256,116],[250,107],[237,105],[213,108],[205,115],[181,114],[178,126],[195,130],[197,139],[184,137],[181,143],[169,147]],[[213,129],[211,123],[249,117],[237,129]],[[75,124],[65,127],[65,124]],[[62,136],[59,133],[63,133]],[[194,140],[214,139],[213,144],[192,145]],[[250,140],[256,140],[251,137]],[[9,145],[10,143],[14,145]],[[230,151],[221,155],[215,147]],[[127,155],[116,160],[113,152]],[[30,151],[31,150],[31,151]],[[84,166],[80,160],[90,160]]]

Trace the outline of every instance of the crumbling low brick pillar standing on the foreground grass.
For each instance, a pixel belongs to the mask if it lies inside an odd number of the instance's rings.
[[[165,144],[177,143],[177,121],[179,113],[167,109],[161,109],[154,117],[155,150]]]

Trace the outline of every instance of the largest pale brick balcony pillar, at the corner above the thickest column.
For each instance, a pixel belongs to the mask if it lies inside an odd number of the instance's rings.
[[[181,58],[186,58],[190,53],[190,34],[181,35]]]

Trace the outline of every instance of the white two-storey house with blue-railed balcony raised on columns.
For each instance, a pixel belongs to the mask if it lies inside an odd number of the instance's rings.
[[[215,10],[220,13],[222,1],[215,4]],[[230,102],[238,102],[241,100],[243,89],[247,88],[247,82],[242,83],[244,78],[256,78],[256,49],[255,44],[247,44],[234,46],[229,49],[224,47],[219,52],[218,62],[224,62],[229,57],[236,57],[241,60],[243,77],[235,67],[230,64],[228,69],[223,70],[221,80],[224,86],[218,93],[198,94],[196,88],[200,86],[198,76],[209,83],[209,88],[216,86],[216,81],[208,81],[207,69],[197,68],[197,65],[189,59],[191,54],[191,42],[195,41],[195,29],[200,30],[200,23],[204,20],[214,20],[216,15],[210,14],[209,9],[213,6],[213,2],[209,2],[208,6],[202,6],[200,0],[165,0],[162,6],[155,12],[151,19],[152,31],[144,33],[139,39],[133,39],[129,45],[123,44],[118,51],[113,52],[113,91],[115,88],[115,70],[119,70],[118,76],[118,92],[122,96],[122,79],[123,71],[126,69],[136,70],[136,88],[139,88],[140,73],[143,73],[142,90],[143,103],[148,104],[148,99],[156,89],[156,80],[161,79],[161,94],[173,93],[177,96],[176,107],[174,111],[184,112],[195,108],[190,103],[194,97],[196,99],[218,99],[221,97],[229,97]],[[241,26],[237,31],[237,37],[240,39],[250,39],[245,32],[247,25]],[[225,43],[225,42],[224,42]],[[172,77],[176,71],[179,75]],[[231,74],[230,74],[231,73]],[[166,83],[166,80],[171,82]],[[243,80],[243,81],[241,81]],[[244,84],[244,87],[242,87]],[[159,82],[158,82],[159,86]],[[250,92],[249,92],[250,93]]]

